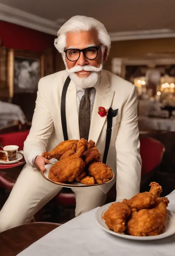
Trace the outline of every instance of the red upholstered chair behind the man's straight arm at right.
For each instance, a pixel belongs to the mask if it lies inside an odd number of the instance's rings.
[[[157,173],[165,151],[164,145],[150,137],[140,139],[140,155],[142,158],[140,192],[147,190],[152,177]],[[132,181],[131,181],[132,182]],[[107,194],[107,202],[116,200],[116,184]]]

